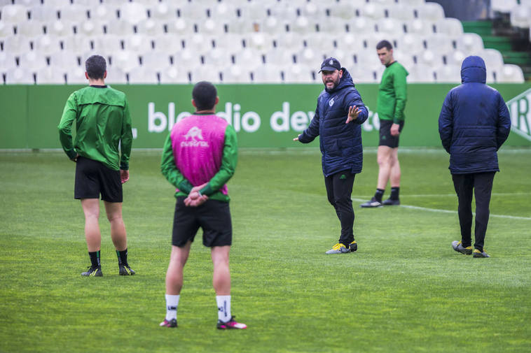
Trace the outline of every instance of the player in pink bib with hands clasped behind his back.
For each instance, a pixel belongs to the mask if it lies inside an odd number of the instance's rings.
[[[166,317],[160,326],[177,327],[177,305],[183,286],[183,268],[199,228],[203,245],[211,248],[218,329],[246,329],[230,313],[229,251],[232,222],[226,182],[237,164],[233,127],[215,115],[216,87],[199,82],[193,87],[195,113],[174,125],[166,139],[161,171],[176,187],[172,254],[166,273]]]

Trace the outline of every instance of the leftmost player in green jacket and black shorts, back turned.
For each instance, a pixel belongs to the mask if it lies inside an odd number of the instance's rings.
[[[105,85],[106,62],[92,55],[85,62],[89,86],[72,93],[57,127],[61,145],[76,162],[74,199],[81,199],[85,213],[85,238],[91,265],[83,276],[101,277],[99,251],[99,195],[111,222],[111,238],[118,256],[118,273],[134,275],[127,263],[127,236],[122,217],[122,184],[129,180],[132,130],[127,99],[123,92]],[[72,142],[71,126],[76,121]],[[120,156],[121,151],[121,156]]]

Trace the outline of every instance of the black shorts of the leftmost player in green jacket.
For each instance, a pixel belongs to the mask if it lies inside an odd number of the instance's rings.
[[[123,201],[120,171],[114,171],[102,162],[78,157],[74,199],[99,199],[99,194],[104,201]]]

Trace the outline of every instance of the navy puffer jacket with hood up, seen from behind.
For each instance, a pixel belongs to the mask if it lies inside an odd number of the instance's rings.
[[[499,171],[497,150],[511,130],[511,117],[502,95],[485,85],[485,62],[467,57],[461,66],[462,84],[450,89],[439,115],[439,134],[450,153],[450,172],[468,174]]]

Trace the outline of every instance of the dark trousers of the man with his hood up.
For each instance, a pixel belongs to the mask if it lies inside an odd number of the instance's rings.
[[[490,193],[495,172],[452,174],[453,185],[459,200],[457,213],[461,226],[461,242],[464,247],[471,246],[472,229],[472,191],[476,196],[476,229],[474,248],[483,251],[485,233],[489,218]]]

